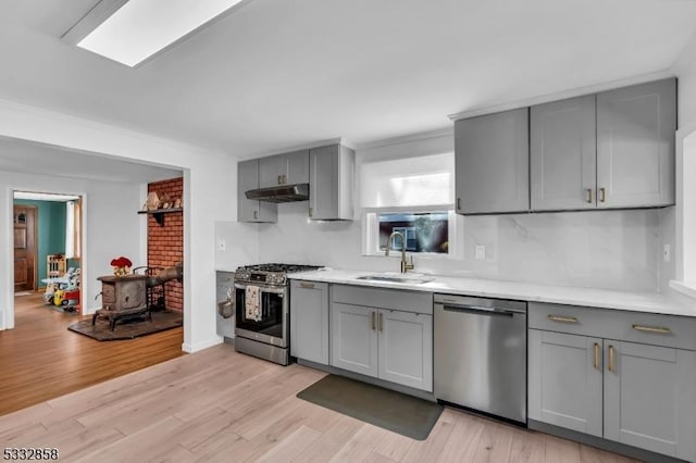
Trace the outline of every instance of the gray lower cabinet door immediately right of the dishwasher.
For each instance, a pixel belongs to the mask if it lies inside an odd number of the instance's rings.
[[[529,330],[529,416],[601,437],[601,339]]]

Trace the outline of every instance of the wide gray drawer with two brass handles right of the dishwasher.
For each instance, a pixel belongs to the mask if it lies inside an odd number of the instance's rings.
[[[530,328],[696,350],[696,318],[530,302]]]

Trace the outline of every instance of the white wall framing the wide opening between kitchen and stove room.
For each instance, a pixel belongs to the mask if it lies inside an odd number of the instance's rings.
[[[232,155],[5,100],[0,100],[0,136],[183,170],[183,348],[190,352],[221,342],[215,335],[214,228],[216,221],[236,216],[237,174]],[[144,200],[128,204],[134,213]],[[11,293],[9,284],[0,287],[4,306]]]

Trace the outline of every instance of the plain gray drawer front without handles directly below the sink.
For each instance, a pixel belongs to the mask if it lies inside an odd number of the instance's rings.
[[[433,295],[431,292],[332,285],[332,301],[427,315],[433,314]]]

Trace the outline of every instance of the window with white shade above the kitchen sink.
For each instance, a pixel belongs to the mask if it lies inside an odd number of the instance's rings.
[[[406,250],[433,256],[452,254],[455,230],[452,152],[363,161],[360,205],[364,213],[363,254],[384,255],[389,235],[399,232]],[[396,235],[390,250],[401,250]]]

